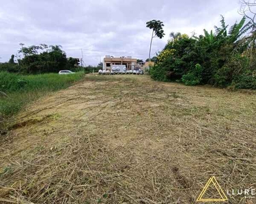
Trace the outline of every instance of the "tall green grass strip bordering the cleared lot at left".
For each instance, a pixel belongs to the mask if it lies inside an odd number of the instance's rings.
[[[0,123],[3,118],[16,114],[25,104],[49,92],[67,88],[83,78],[83,75],[80,72],[68,75],[57,73],[18,75],[0,72],[0,91],[2,92],[0,92]]]

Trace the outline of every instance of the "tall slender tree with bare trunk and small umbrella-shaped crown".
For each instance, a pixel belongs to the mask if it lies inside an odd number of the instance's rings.
[[[160,39],[162,39],[162,37],[164,37],[165,33],[164,33],[164,30],[162,29],[162,27],[164,27],[165,25],[160,20],[150,20],[150,21],[146,22],[146,25],[148,28],[152,29],[152,37],[151,37],[151,41],[150,41],[150,52],[151,52],[153,38],[159,37]],[[150,54],[149,54],[148,58],[150,61]]]

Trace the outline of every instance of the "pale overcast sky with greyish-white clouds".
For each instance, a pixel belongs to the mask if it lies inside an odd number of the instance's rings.
[[[0,0],[0,62],[25,46],[61,45],[68,56],[96,65],[106,54],[147,58],[148,20],[162,20],[165,38],[154,38],[152,54],[162,50],[171,31],[197,34],[242,16],[239,0]]]

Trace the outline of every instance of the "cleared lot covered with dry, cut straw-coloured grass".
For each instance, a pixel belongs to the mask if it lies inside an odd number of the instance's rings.
[[[195,203],[212,175],[255,188],[255,113],[253,92],[89,75],[1,138],[0,203]]]

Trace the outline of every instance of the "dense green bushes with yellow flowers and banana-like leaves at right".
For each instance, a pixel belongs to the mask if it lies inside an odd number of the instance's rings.
[[[222,16],[221,27],[215,27],[215,33],[204,30],[199,37],[171,33],[150,74],[154,80],[186,85],[256,89],[256,33],[252,29],[253,23],[243,17],[227,31]]]

